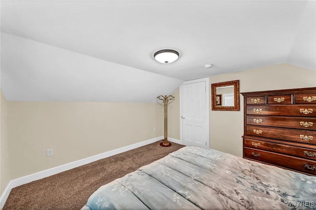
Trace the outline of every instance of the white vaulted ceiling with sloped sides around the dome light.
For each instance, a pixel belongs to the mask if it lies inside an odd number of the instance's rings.
[[[0,3],[7,100],[154,102],[219,73],[280,63],[316,70],[314,0]],[[160,49],[179,59],[158,63]]]

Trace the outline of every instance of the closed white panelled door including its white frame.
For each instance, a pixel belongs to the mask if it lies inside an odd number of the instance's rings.
[[[209,148],[208,78],[181,86],[181,140],[187,146]]]

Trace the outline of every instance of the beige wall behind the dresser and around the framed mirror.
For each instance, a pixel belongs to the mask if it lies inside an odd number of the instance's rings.
[[[316,71],[288,64],[215,75],[210,84],[239,80],[240,92],[316,86]],[[210,148],[242,156],[243,97],[240,111],[210,109]]]

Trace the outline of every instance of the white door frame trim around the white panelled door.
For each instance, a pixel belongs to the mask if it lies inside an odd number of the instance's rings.
[[[206,114],[206,148],[209,148],[209,77],[185,81],[182,85],[205,81],[205,114]],[[182,85],[180,86],[180,143],[183,144],[182,136]]]

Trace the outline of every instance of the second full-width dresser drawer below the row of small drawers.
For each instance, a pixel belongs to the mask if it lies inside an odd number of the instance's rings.
[[[316,130],[316,118],[309,117],[246,116],[246,124]]]

